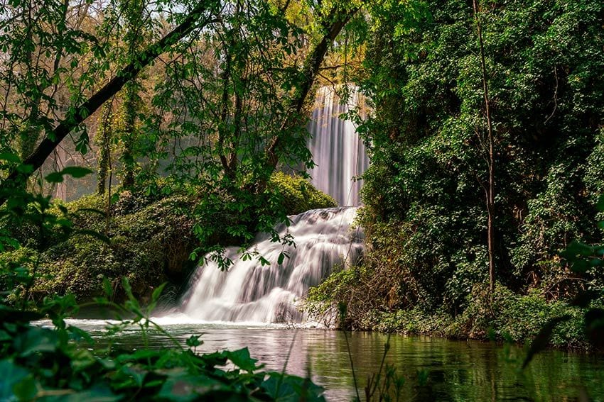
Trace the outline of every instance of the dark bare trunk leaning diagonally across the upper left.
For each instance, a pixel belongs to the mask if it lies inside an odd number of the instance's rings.
[[[184,38],[188,33],[195,29],[195,23],[202,16],[212,4],[214,0],[203,0],[195,6],[195,9],[189,13],[185,21],[180,23],[179,26],[174,28],[171,33],[168,33],[165,37],[159,40],[157,43],[149,46],[141,52],[129,65],[124,67],[122,71],[117,74],[114,79],[105,84],[97,93],[90,96],[90,98],[75,109],[75,113],[70,114],[60,121],[55,129],[48,133],[42,140],[40,145],[36,147],[36,150],[23,161],[23,164],[28,164],[33,167],[33,171],[39,169],[46,158],[55,150],[55,147],[65,138],[71,130],[76,128],[80,123],[97,109],[104,104],[107,99],[111,98],[117,92],[122,89],[126,82],[129,82],[132,78],[136,77],[141,69],[149,65],[158,55],[165,52],[169,47],[174,45],[178,40]],[[24,173],[18,172],[17,169],[13,169],[9,176],[6,177],[0,183],[0,205],[6,202],[8,199],[11,189],[16,188],[19,183],[23,183],[26,179],[31,176],[32,172]]]

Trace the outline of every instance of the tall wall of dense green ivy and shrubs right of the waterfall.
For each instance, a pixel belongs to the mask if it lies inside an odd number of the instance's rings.
[[[603,285],[601,269],[573,272],[561,252],[602,239],[604,6],[498,1],[474,13],[467,1],[427,1],[392,11],[375,21],[360,73],[374,106],[361,125],[370,250],[316,299],[349,303],[353,328],[527,339],[564,301]],[[581,345],[582,333],[576,320],[556,343]]]

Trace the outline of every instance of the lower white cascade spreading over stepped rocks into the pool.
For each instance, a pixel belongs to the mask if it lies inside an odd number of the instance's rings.
[[[182,312],[203,321],[300,322],[296,301],[306,295],[338,264],[354,264],[362,252],[363,233],[352,228],[357,208],[326,208],[290,216],[291,224],[277,225],[283,237],[292,235],[294,246],[271,242],[258,235],[249,252],[257,251],[271,262],[244,261],[238,247],[227,248],[233,264],[222,272],[215,262],[198,267],[183,297]],[[279,254],[289,258],[278,264]]]

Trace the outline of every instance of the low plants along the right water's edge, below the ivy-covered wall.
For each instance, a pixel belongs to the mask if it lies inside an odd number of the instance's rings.
[[[306,311],[325,317],[330,320],[330,325],[338,325],[333,314],[335,301],[352,297],[353,292],[350,282],[346,283],[343,277],[358,274],[355,274],[355,269],[340,272],[311,289]],[[475,286],[475,292],[458,315],[451,314],[446,308],[428,312],[421,306],[408,309],[387,309],[387,306],[383,306],[382,309],[364,311],[358,305],[351,305],[352,308],[347,308],[343,325],[348,330],[523,345],[532,342],[550,320],[568,316],[568,320],[556,325],[547,344],[566,350],[595,349],[586,336],[585,308],[569,306],[565,301],[546,301],[538,291],[527,295],[514,294],[504,286],[496,287],[492,303],[482,286]],[[597,303],[597,306],[601,304]]]

